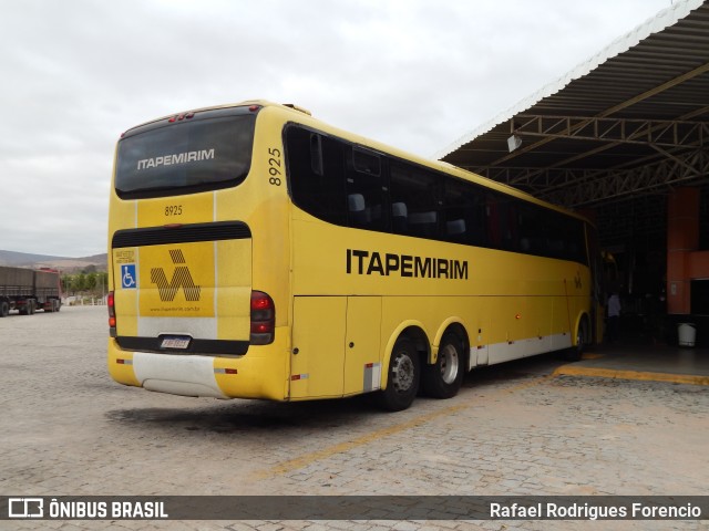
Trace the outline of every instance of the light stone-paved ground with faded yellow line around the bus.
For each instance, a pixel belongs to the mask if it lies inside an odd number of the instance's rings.
[[[709,387],[557,373],[538,356],[458,397],[220,402],[114,384],[102,308],[0,319],[0,493],[706,494]],[[4,529],[707,529],[707,522],[0,521]],[[4,527],[4,528],[3,528]]]

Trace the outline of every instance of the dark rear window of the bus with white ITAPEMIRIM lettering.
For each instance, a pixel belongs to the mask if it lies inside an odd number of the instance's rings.
[[[255,116],[201,118],[129,132],[119,143],[119,197],[194,194],[242,183],[251,164]]]

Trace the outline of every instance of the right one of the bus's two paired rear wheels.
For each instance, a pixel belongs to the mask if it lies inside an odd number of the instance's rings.
[[[452,332],[441,341],[435,363],[423,367],[423,391],[434,398],[451,398],[458,394],[464,376],[463,342]]]

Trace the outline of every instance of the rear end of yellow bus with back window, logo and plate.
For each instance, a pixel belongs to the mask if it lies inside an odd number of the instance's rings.
[[[259,290],[267,279],[254,274],[255,252],[279,257],[259,249],[254,227],[285,222],[285,212],[263,212],[264,201],[278,201],[276,190],[249,177],[258,174],[261,110],[185,113],[122,135],[109,223],[116,382],[185,396],[285,398],[285,362],[271,355],[286,352],[276,341],[276,303]]]

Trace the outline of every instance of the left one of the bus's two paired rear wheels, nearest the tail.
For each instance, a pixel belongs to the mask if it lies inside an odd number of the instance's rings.
[[[400,336],[389,360],[387,388],[378,393],[378,404],[388,412],[407,409],[417,396],[421,358],[413,341]]]

